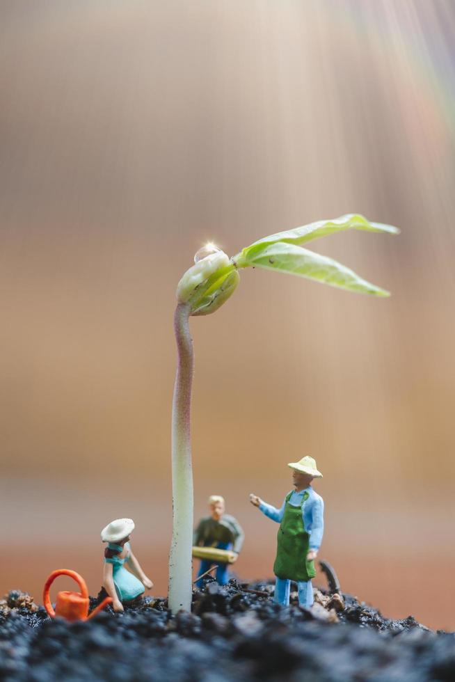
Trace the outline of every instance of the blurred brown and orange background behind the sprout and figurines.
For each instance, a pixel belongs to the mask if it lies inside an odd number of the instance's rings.
[[[391,299],[256,269],[193,319],[195,516],[225,495],[240,576],[271,576],[248,493],[280,504],[312,454],[342,587],[455,628],[454,24],[449,0],[1,0],[0,592],[65,566],[94,594],[132,516],[165,594],[177,281],[207,239],[361,212],[401,236],[314,248]]]

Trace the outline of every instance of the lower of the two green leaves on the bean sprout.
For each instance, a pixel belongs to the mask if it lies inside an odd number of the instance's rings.
[[[370,284],[333,258],[282,241],[262,246],[261,251],[250,253],[247,265],[280,270],[353,292],[390,296],[389,292]]]

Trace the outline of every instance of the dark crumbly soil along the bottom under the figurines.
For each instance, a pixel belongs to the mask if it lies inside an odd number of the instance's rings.
[[[255,590],[256,592],[247,592]],[[272,601],[273,585],[219,587],[170,616],[163,599],[91,621],[51,620],[21,592],[0,602],[0,679],[110,682],[424,682],[455,680],[455,633],[383,618],[344,594],[312,610]],[[295,602],[295,594],[293,595]],[[96,599],[91,600],[95,606]]]

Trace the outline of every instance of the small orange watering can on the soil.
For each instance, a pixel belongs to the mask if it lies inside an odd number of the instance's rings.
[[[55,611],[52,608],[51,598],[49,596],[49,589],[58,576],[70,576],[76,580],[77,584],[81,588],[81,592],[58,592]],[[106,597],[102,603],[100,603],[97,608],[93,609],[88,615],[88,589],[86,581],[79,576],[76,571],[70,571],[70,569],[58,569],[58,571],[52,571],[49,578],[46,580],[45,589],[42,593],[42,603],[45,605],[49,616],[55,618],[60,616],[65,618],[67,621],[86,621],[89,618],[95,616],[99,611],[104,609],[109,603],[111,603],[111,597]]]

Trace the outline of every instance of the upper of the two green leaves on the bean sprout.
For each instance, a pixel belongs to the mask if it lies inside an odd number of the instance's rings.
[[[333,235],[334,232],[342,232],[343,230],[367,230],[367,232],[389,232],[391,235],[397,235],[399,229],[394,225],[384,225],[383,223],[371,223],[364,216],[356,214],[348,214],[336,218],[334,220],[321,220],[317,223],[310,223],[310,225],[303,225],[301,228],[294,230],[286,230],[285,232],[277,232],[276,235],[263,237],[258,239],[254,244],[246,246],[237,256],[232,259],[237,267],[246,267],[250,255],[257,251],[262,251],[264,246],[269,244],[276,244],[277,242],[285,242],[285,244],[305,244],[306,241],[317,239],[318,237],[326,237],[326,235]]]

